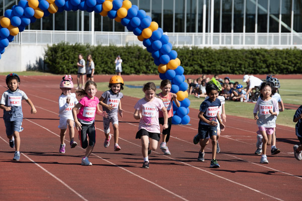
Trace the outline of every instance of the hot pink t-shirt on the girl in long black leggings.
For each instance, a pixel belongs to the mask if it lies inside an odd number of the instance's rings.
[[[93,99],[89,99],[87,96],[81,98],[79,101],[83,106],[80,108],[80,112],[77,115],[78,119],[86,122],[93,122],[97,112],[97,105],[100,100],[96,96]]]

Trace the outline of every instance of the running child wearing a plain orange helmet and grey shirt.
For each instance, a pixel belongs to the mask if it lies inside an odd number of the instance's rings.
[[[104,147],[107,148],[109,146],[109,141],[111,140],[110,135],[110,122],[113,126],[113,137],[114,137],[114,151],[121,150],[121,147],[118,145],[118,115],[117,113],[123,117],[123,110],[121,105],[121,98],[123,97],[123,93],[120,92],[124,89],[124,80],[121,76],[115,75],[112,76],[109,80],[108,87],[110,90],[105,91],[100,97],[100,105],[103,108],[103,111],[106,111],[108,117],[103,118],[104,123],[104,133],[105,133],[105,141]]]

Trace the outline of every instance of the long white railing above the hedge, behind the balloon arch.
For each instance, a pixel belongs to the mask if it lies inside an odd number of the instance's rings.
[[[175,47],[235,47],[235,48],[300,48],[302,33],[165,33]],[[94,40],[92,40],[94,39]],[[203,41],[204,39],[204,41]],[[211,44],[212,41],[212,44]],[[139,45],[142,42],[132,32],[78,32],[25,30],[18,34],[12,44],[69,44],[92,45]]]

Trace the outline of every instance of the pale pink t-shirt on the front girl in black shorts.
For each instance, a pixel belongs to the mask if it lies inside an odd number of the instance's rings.
[[[150,133],[161,133],[159,124],[159,111],[164,108],[163,101],[154,97],[151,102],[146,102],[144,98],[138,100],[134,109],[141,112],[138,130],[145,129]]]

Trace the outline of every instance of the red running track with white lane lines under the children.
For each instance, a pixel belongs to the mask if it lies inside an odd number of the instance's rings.
[[[12,160],[14,149],[9,147],[4,122],[0,120],[0,200],[300,198],[302,161],[293,157],[292,147],[298,144],[293,128],[277,125],[277,147],[281,153],[268,154],[269,164],[260,164],[260,156],[254,154],[256,122],[227,116],[226,129],[219,139],[220,168],[212,169],[209,168],[211,145],[206,148],[205,162],[197,162],[200,147],[192,143],[192,138],[197,133],[198,110],[190,109],[191,125],[172,126],[169,142],[172,155],[165,156],[158,148],[149,156],[150,168],[143,169],[141,143],[135,139],[138,121],[133,119],[133,106],[138,98],[130,96],[122,99],[125,112],[119,124],[121,151],[113,151],[113,141],[104,148],[102,118],[97,116],[97,144],[90,157],[93,166],[81,166],[85,150],[80,146],[74,149],[66,146],[65,154],[58,152],[60,79],[61,76],[21,76],[20,89],[31,98],[38,113],[31,115],[30,107],[23,102],[19,162]],[[0,83],[4,85],[5,76],[0,77]],[[5,90],[2,88],[1,92]],[[97,96],[101,94],[98,91]],[[2,119],[3,112],[0,113]]]

